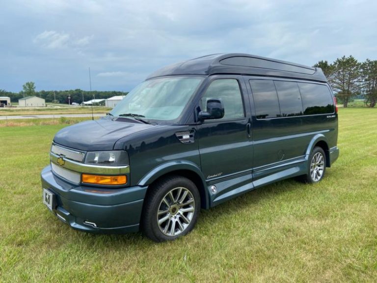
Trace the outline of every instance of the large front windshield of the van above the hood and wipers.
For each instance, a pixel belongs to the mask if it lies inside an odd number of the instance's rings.
[[[203,78],[170,77],[148,80],[136,86],[110,114],[138,116],[144,120],[175,120]]]

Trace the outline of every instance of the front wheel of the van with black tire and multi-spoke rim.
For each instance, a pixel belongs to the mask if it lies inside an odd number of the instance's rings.
[[[157,181],[145,199],[141,230],[155,242],[175,240],[192,230],[200,212],[195,184],[182,176]]]

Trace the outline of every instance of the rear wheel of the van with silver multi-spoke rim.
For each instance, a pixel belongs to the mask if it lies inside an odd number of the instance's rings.
[[[308,159],[308,171],[306,175],[299,177],[299,180],[308,183],[318,183],[326,172],[326,155],[322,147],[316,146]]]

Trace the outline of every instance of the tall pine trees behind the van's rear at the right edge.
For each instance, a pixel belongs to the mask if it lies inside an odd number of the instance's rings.
[[[332,64],[319,61],[313,67],[320,67],[331,85],[335,96],[343,107],[354,97],[363,97],[368,107],[377,103],[377,60],[357,61],[354,57],[343,56]]]

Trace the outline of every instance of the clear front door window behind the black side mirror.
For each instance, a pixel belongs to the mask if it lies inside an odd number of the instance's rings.
[[[235,79],[218,79],[211,83],[202,97],[202,109],[207,111],[207,100],[220,98],[224,105],[225,114],[222,119],[242,118],[243,111],[240,85]]]

